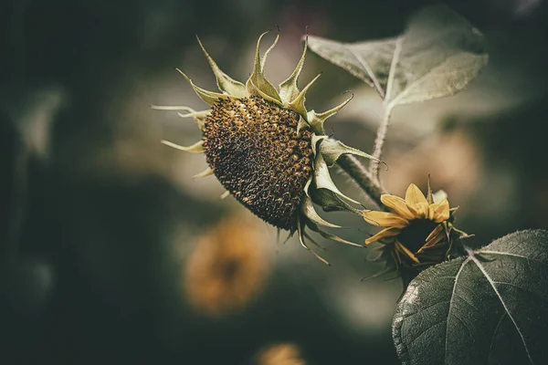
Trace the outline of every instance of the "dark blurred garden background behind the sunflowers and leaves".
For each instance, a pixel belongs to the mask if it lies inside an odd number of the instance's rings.
[[[0,363],[398,363],[390,336],[398,280],[366,249],[327,243],[324,266],[248,214],[202,155],[163,146],[200,138],[191,120],[151,104],[205,104],[174,70],[215,89],[195,41],[245,80],[258,35],[281,39],[267,77],[296,65],[309,33],[340,41],[395,36],[431,2],[7,0],[0,12]],[[490,64],[450,99],[400,107],[385,150],[391,193],[444,189],[469,245],[548,228],[548,5],[448,1],[487,37]],[[269,35],[269,40],[274,35]],[[266,44],[266,43],[265,43]],[[310,109],[355,98],[327,130],[371,151],[372,89],[325,71]],[[338,183],[368,204],[349,179]],[[344,238],[372,227],[349,214]]]

